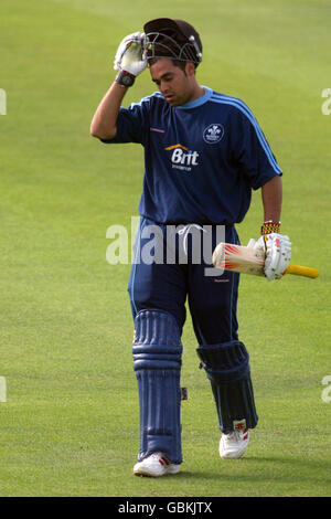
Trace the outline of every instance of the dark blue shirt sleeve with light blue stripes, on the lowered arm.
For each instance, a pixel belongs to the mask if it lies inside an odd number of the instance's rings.
[[[276,174],[282,174],[276,158],[249,108],[241,102],[233,114],[235,125],[234,156],[241,171],[254,190]]]

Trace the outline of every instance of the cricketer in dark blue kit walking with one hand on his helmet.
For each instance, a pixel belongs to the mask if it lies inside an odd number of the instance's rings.
[[[202,242],[207,225],[216,246],[222,225],[224,242],[239,244],[235,224],[248,211],[252,190],[260,189],[264,222],[250,246],[265,252],[268,280],[280,279],[290,261],[291,243],[280,234],[282,171],[247,105],[197,82],[202,50],[197,31],[186,21],[148,21],[143,32],[120,42],[116,78],[90,124],[90,134],[105,144],[137,142],[145,150],[128,287],[140,409],[136,475],[174,475],[183,462],[180,375],[186,300],[200,366],[216,404],[221,457],[243,456],[258,421],[249,357],[238,338],[239,274],[206,276],[210,265],[203,257],[195,261],[193,236]],[[125,108],[128,88],[145,70],[158,92]],[[174,261],[141,261],[150,225],[160,230],[164,250],[167,229],[178,230]],[[181,247],[184,262],[178,260]]]

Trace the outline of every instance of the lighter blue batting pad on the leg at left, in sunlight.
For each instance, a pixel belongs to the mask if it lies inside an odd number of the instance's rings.
[[[180,464],[182,343],[174,317],[162,310],[139,311],[132,353],[140,406],[138,462],[160,451]]]

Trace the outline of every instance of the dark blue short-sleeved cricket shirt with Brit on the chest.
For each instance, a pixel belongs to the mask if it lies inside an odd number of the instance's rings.
[[[203,88],[182,106],[154,93],[121,107],[115,139],[103,140],[143,146],[139,213],[156,222],[238,223],[252,189],[282,174],[247,105]]]

